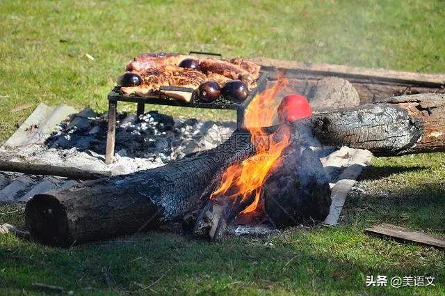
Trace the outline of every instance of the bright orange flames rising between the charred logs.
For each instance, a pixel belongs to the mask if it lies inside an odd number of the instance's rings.
[[[253,202],[238,216],[260,211],[262,185],[284,148],[289,145],[289,132],[281,130],[280,137],[274,137],[274,134],[268,134],[262,128],[273,125],[280,104],[276,97],[287,83],[286,79],[278,79],[272,88],[260,93],[250,102],[245,110],[244,123],[252,134],[251,141],[256,153],[241,163],[229,166],[223,174],[220,187],[211,195],[211,198],[229,198],[234,203],[248,203],[254,195]],[[267,139],[267,144],[259,139]]]

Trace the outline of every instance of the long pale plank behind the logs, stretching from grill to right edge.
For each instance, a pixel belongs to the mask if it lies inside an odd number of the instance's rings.
[[[254,63],[261,65],[265,70],[268,68],[278,69],[296,69],[300,72],[318,72],[330,76],[357,76],[367,77],[369,79],[383,79],[392,81],[405,81],[409,84],[423,85],[445,85],[445,74],[425,74],[416,72],[394,71],[385,69],[369,69],[359,67],[348,67],[346,65],[330,65],[327,63],[301,63],[298,61],[285,61],[277,59],[268,59],[257,57],[250,59]]]

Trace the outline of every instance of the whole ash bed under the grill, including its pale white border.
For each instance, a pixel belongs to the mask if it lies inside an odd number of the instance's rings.
[[[215,148],[236,128],[234,122],[174,119],[157,111],[149,111],[138,121],[135,114],[118,114],[115,162],[106,165],[107,115],[83,110],[60,123],[45,145],[24,146],[3,153],[9,154],[10,160],[80,166],[118,175],[151,169],[190,153]]]

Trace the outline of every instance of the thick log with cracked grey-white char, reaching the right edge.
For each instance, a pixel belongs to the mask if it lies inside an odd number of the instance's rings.
[[[325,145],[367,149],[376,156],[443,152],[445,95],[394,97],[317,114],[289,125],[299,141],[307,134],[298,133],[309,130]]]

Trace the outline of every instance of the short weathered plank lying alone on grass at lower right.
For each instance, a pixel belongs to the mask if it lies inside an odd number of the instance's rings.
[[[407,240],[410,242],[417,242],[419,244],[426,244],[428,246],[445,249],[445,237],[430,235],[420,231],[412,231],[410,229],[391,224],[383,223],[378,226],[366,228],[365,231],[366,233],[371,233],[374,235],[385,235],[399,240]]]

